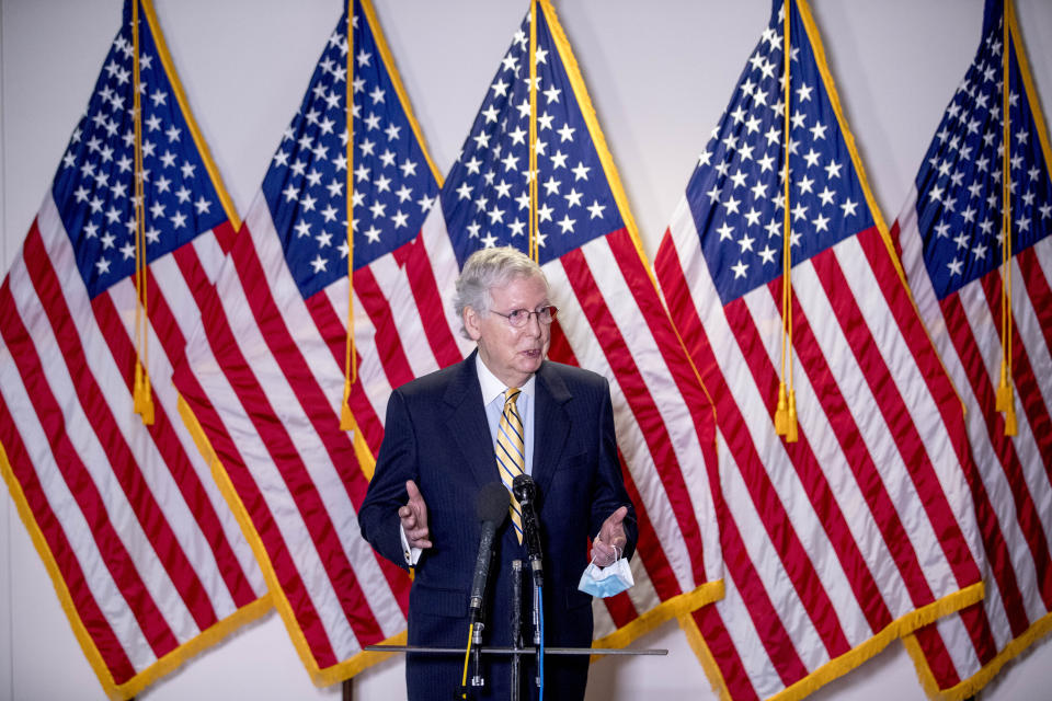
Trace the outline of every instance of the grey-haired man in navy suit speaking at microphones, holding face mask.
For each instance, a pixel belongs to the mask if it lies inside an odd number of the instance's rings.
[[[516,476],[529,475],[536,491],[526,506],[536,510],[544,554],[545,645],[587,647],[592,597],[578,589],[582,573],[590,561],[602,567],[629,558],[637,537],[609,387],[594,372],[545,359],[557,309],[544,272],[519,251],[472,254],[455,303],[464,333],[478,348],[391,394],[376,472],[358,513],[362,533],[385,558],[415,567],[409,644],[464,648],[482,532],[478,495],[496,481],[511,492]],[[511,563],[528,560],[522,510],[512,497],[508,518],[493,538],[485,645],[512,644]],[[528,623],[528,564],[523,576]],[[524,630],[531,633],[528,625]],[[521,697],[536,698],[536,660],[525,659]],[[482,662],[487,683],[473,697],[510,698],[510,658],[489,655]],[[587,655],[546,656],[545,699],[582,699],[587,665]],[[459,698],[464,669],[462,656],[410,654],[408,696]]]

